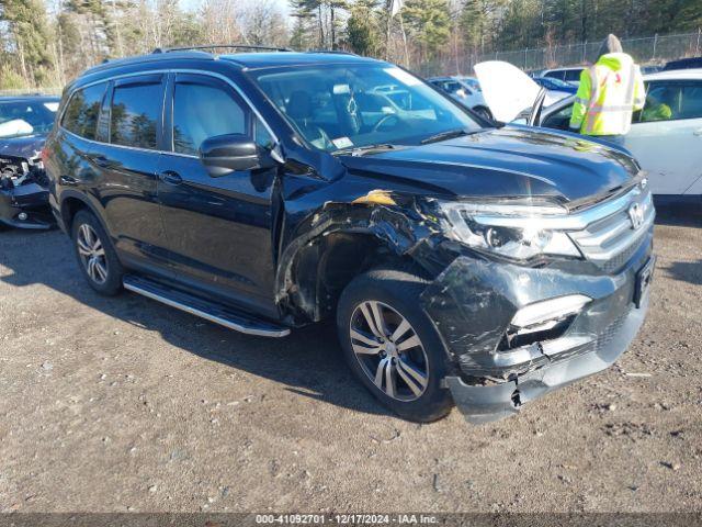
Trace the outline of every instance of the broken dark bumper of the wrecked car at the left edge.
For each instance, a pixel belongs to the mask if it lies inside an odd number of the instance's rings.
[[[54,216],[48,206],[48,190],[37,183],[0,190],[0,224],[34,229],[54,226]]]

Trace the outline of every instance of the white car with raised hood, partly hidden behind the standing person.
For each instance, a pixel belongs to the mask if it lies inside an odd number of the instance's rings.
[[[502,122],[568,130],[574,98],[551,105],[534,104],[537,86],[516,67],[477,65],[486,102]],[[511,65],[509,65],[511,66]],[[509,71],[508,71],[509,70]],[[516,71],[514,71],[516,70]],[[501,77],[495,79],[496,76]],[[509,76],[512,93],[505,93]],[[645,75],[646,104],[634,113],[631,132],[621,143],[642,168],[659,203],[702,202],[702,69]],[[492,86],[496,85],[496,86]],[[533,85],[533,86],[532,86]],[[520,94],[525,96],[520,97]],[[531,100],[529,100],[531,98]],[[533,108],[532,108],[533,106]]]

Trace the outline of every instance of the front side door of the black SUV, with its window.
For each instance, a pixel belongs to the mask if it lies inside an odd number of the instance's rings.
[[[202,142],[225,134],[271,137],[224,80],[176,74],[167,93],[167,142],[158,199],[169,259],[179,280],[214,296],[273,314],[271,197],[276,169],[212,177],[199,158]]]

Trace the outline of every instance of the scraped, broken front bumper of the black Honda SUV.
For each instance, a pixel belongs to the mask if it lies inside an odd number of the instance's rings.
[[[653,231],[611,273],[587,261],[526,268],[456,258],[428,287],[422,303],[455,365],[445,384],[466,419],[479,424],[513,415],[523,404],[611,366],[646,316],[652,239]],[[587,302],[539,326],[546,330],[533,338],[526,330],[510,341],[525,306],[569,298]]]

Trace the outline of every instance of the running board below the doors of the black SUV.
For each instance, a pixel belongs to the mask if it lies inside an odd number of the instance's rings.
[[[224,305],[210,302],[192,294],[162,285],[146,278],[127,274],[123,279],[124,289],[143,294],[171,307],[200,316],[235,332],[259,337],[285,337],[290,329],[273,323],[258,319]]]

